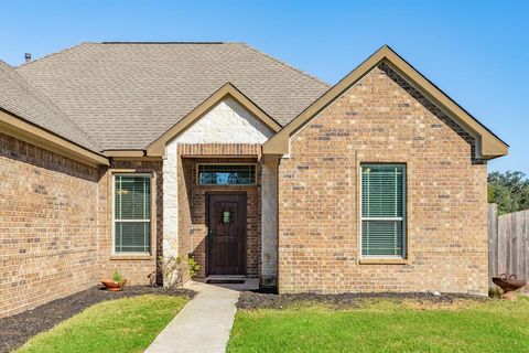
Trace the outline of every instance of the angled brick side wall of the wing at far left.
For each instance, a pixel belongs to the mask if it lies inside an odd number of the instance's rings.
[[[0,133],[0,317],[94,286],[99,171]]]

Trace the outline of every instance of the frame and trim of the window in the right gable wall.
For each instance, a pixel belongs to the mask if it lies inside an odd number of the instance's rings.
[[[402,217],[364,217],[363,212],[361,212],[361,178],[363,178],[363,168],[364,165],[396,165],[396,167],[404,167],[403,172],[402,172]],[[359,248],[360,248],[360,259],[407,259],[408,258],[408,234],[407,234],[407,184],[408,184],[408,178],[407,178],[407,171],[408,171],[408,164],[407,163],[384,163],[384,162],[361,162],[359,164],[359,173],[360,173],[360,183],[359,183],[359,195],[360,195],[360,207],[359,207],[359,214],[360,214],[360,224],[359,224]],[[401,221],[402,222],[402,254],[403,255],[364,255],[364,249],[363,249],[363,238],[361,238],[361,225],[364,221]]]

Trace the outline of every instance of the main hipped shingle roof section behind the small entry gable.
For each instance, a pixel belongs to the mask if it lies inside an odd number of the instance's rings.
[[[283,126],[330,87],[242,43],[84,43],[17,71],[102,150],[147,148],[227,82]]]

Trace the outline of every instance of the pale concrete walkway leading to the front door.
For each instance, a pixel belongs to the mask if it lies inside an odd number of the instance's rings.
[[[234,324],[237,290],[191,282],[198,295],[163,329],[145,353],[222,353]]]

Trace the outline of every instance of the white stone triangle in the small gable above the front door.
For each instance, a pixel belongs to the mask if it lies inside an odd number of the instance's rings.
[[[263,143],[273,131],[233,98],[219,101],[176,138],[179,143]]]

